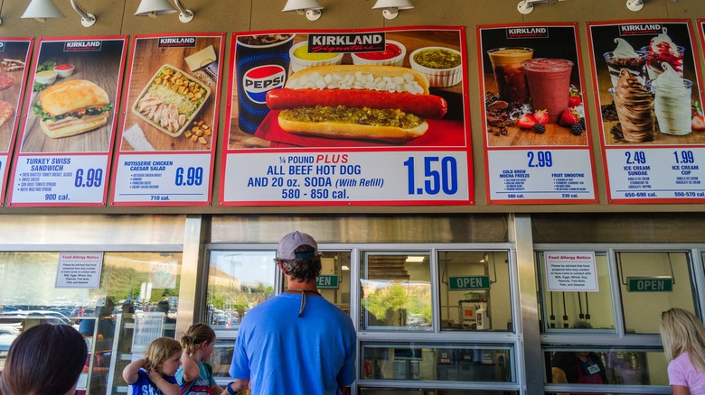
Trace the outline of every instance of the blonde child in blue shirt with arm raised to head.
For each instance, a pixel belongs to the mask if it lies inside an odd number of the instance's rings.
[[[132,386],[133,395],[178,395],[174,374],[181,364],[181,344],[159,337],[149,344],[146,357],[128,364],[122,378]]]

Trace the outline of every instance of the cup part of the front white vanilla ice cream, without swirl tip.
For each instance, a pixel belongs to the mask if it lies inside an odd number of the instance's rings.
[[[691,133],[691,89],[692,81],[683,79],[682,88],[659,87],[647,81],[655,93],[653,111],[659,131],[664,134],[682,136]]]

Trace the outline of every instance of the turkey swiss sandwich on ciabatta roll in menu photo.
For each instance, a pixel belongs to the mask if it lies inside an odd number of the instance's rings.
[[[33,106],[42,131],[67,137],[97,129],[108,121],[113,104],[102,87],[85,79],[60,82],[43,90]]]

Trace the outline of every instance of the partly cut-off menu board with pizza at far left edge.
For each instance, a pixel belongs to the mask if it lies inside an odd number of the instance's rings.
[[[10,169],[7,161],[12,157],[20,125],[22,93],[33,43],[30,38],[0,38],[0,205],[5,199],[5,181]]]

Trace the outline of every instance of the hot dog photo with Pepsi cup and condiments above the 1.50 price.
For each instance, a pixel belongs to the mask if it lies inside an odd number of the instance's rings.
[[[236,36],[230,149],[465,147],[457,30]]]

